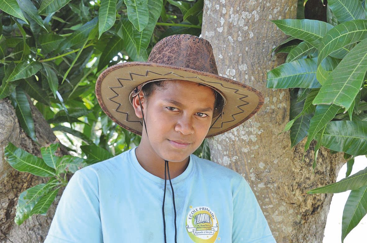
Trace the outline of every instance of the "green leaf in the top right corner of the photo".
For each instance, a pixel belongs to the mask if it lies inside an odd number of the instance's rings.
[[[359,0],[328,0],[327,5],[340,23],[366,18]]]

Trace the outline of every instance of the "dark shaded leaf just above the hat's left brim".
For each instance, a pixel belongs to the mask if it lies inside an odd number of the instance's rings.
[[[106,65],[110,63],[117,53],[122,52],[124,48],[124,40],[119,36],[113,36],[108,40],[108,45],[106,45],[103,50],[101,57],[99,58],[98,70],[102,70]]]

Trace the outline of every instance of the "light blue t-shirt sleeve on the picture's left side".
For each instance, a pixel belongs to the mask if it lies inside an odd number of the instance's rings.
[[[93,180],[80,171],[71,177],[56,208],[44,243],[103,242],[98,180],[95,175],[94,177]],[[97,183],[97,186],[94,183]]]

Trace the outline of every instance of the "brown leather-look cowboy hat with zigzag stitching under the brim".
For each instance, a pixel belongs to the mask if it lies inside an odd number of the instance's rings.
[[[153,47],[148,61],[119,63],[103,71],[95,93],[102,110],[121,127],[142,134],[142,119],[135,115],[132,98],[148,82],[181,79],[207,85],[224,98],[222,111],[213,117],[206,138],[239,126],[264,104],[256,89],[218,75],[210,43],[193,35],[171,35]]]

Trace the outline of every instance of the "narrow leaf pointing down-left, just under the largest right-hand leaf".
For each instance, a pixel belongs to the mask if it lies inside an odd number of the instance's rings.
[[[317,132],[319,132],[328,122],[330,122],[339,111],[337,105],[317,105],[315,109],[315,115],[310,121],[310,127],[307,131],[307,141],[305,144],[305,152],[310,147],[310,143],[315,138]]]

